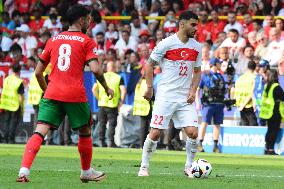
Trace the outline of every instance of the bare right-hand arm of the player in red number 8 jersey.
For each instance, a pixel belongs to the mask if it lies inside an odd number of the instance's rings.
[[[100,82],[100,84],[103,86],[105,89],[105,92],[107,95],[111,98],[113,98],[113,91],[108,87],[106,80],[104,78],[103,70],[100,67],[98,61],[96,59],[92,59],[91,61],[88,62],[89,67],[91,71],[95,74],[96,79]]]

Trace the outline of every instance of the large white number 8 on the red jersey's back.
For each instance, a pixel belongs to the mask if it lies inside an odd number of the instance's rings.
[[[70,67],[71,46],[69,44],[62,44],[58,50],[57,66],[60,71],[67,71]]]

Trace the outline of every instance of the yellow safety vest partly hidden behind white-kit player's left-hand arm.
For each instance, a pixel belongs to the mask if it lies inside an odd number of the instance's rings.
[[[135,87],[133,115],[147,116],[149,114],[150,103],[143,97],[146,90],[146,79],[142,79]]]

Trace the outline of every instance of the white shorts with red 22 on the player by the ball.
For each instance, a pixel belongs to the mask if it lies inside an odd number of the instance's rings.
[[[175,128],[198,127],[198,115],[195,104],[156,100],[150,126],[157,129],[168,129],[171,119]]]

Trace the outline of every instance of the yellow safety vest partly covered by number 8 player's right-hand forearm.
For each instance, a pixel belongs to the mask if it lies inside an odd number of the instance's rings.
[[[111,88],[114,92],[114,96],[111,100],[109,100],[109,97],[107,96],[103,86],[98,82],[99,86],[99,99],[98,104],[99,106],[103,107],[109,107],[109,108],[116,108],[119,103],[120,99],[120,75],[114,73],[114,72],[107,72],[104,73],[104,77],[106,80],[107,85],[109,88]]]

